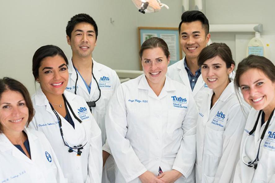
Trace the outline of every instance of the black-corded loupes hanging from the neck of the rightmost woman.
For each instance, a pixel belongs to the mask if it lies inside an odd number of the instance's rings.
[[[265,134],[265,132],[266,132],[266,130],[267,130],[267,128],[268,128],[268,125],[269,125],[269,123],[270,123],[270,121],[271,121],[271,118],[272,118],[272,116],[273,116],[274,109],[273,109],[272,113],[270,114],[270,116],[269,116],[269,118],[268,118],[268,121],[267,121],[267,123],[266,123],[266,125],[265,125],[265,127],[264,127],[264,131],[263,131],[263,133],[262,133],[262,135],[261,135],[261,140],[260,140],[260,143],[259,143],[259,147],[258,147],[258,151],[257,151],[256,158],[252,161],[252,160],[246,155],[246,153],[245,153],[246,143],[247,143],[248,137],[249,137],[250,135],[252,135],[252,134],[254,133],[254,131],[256,130],[257,125],[258,125],[258,122],[259,122],[259,118],[260,118],[260,115],[261,115],[262,111],[263,111],[263,110],[260,110],[260,112],[259,112],[259,114],[258,114],[258,117],[257,117],[257,120],[256,120],[256,122],[255,122],[255,125],[254,125],[253,129],[249,132],[247,138],[245,139],[244,145],[243,145],[243,149],[242,149],[242,162],[243,162],[245,165],[247,165],[248,167],[253,167],[254,169],[256,169],[257,166],[258,166],[261,142],[262,142],[262,140],[263,140],[263,138],[264,138],[264,134]],[[248,161],[247,163],[246,163],[246,161],[244,160],[244,157],[248,157],[249,161]]]

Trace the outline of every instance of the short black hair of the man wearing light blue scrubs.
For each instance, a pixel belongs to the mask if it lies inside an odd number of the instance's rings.
[[[98,27],[94,21],[94,19],[85,13],[80,13],[77,15],[74,15],[67,24],[66,27],[66,34],[67,36],[69,36],[69,38],[71,39],[71,35],[72,35],[72,31],[74,29],[74,27],[76,26],[77,23],[81,23],[81,22],[86,22],[91,24],[94,27],[94,31],[95,31],[95,40],[97,40],[97,36],[98,36]]]

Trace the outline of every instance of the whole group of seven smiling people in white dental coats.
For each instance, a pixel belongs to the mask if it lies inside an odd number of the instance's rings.
[[[267,58],[250,55],[234,73],[226,44],[206,47],[205,15],[186,11],[186,57],[168,67],[167,44],[152,37],[139,52],[144,74],[120,85],[92,58],[89,15],[72,17],[66,33],[71,60],[54,45],[35,52],[32,99],[0,79],[0,182],[275,182]]]

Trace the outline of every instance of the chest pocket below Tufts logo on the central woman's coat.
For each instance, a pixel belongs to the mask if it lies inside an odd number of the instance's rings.
[[[182,130],[181,125],[186,115],[186,110],[169,109],[168,110],[168,123],[167,134],[173,135],[179,130]]]

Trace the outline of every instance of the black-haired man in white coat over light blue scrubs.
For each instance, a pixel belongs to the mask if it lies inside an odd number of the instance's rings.
[[[72,49],[66,90],[82,96],[89,105],[102,134],[103,166],[106,162],[102,182],[114,182],[114,160],[112,156],[109,157],[111,150],[105,142],[105,114],[111,96],[120,86],[120,80],[114,70],[92,58],[98,36],[98,27],[92,17],[83,13],[73,16],[68,21],[66,34]]]

